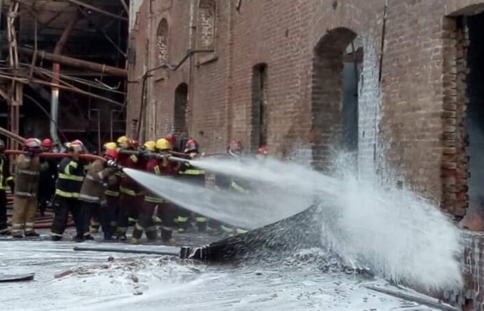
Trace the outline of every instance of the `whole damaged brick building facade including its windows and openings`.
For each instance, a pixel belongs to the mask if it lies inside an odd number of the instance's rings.
[[[349,151],[361,178],[484,229],[484,1],[136,4],[128,134],[237,137],[321,170]]]

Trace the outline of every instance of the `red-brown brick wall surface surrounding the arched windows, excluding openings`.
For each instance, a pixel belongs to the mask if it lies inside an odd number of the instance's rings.
[[[152,13],[147,12],[147,2],[141,6],[140,24],[133,32],[137,62],[130,69],[130,80],[143,74],[145,40],[156,41],[162,18],[169,23],[172,64],[183,58],[189,47],[200,46],[198,1],[154,1]],[[330,103],[337,107],[338,101],[320,98],[316,109],[313,95],[319,87],[326,95],[338,97],[341,80],[335,73],[324,80],[322,74],[322,82],[313,83],[317,76],[315,47],[328,31],[343,27],[363,43],[359,86],[361,176],[374,176],[376,168],[389,182],[401,181],[404,187],[418,190],[435,202],[444,202],[444,194],[454,198],[452,193],[444,193],[451,187],[441,178],[444,152],[449,151],[444,149],[444,129],[455,122],[452,113],[444,117],[444,103],[452,97],[449,85],[452,89],[455,84],[445,82],[455,79],[444,53],[452,49],[455,40],[448,37],[444,16],[481,1],[389,0],[381,82],[385,0],[243,0],[237,11],[238,2],[216,1],[215,51],[196,54],[177,71],[167,73],[164,80],[149,78],[147,137],[169,131],[175,89],[186,83],[188,130],[202,149],[222,151],[232,137],[239,137],[249,148],[252,70],[265,63],[271,154],[324,163],[339,139],[339,117],[328,110]],[[158,60],[154,42],[150,46],[148,67],[154,67]],[[138,115],[141,82],[130,84],[129,98],[128,124]],[[328,113],[327,118],[316,113],[318,109]],[[319,128],[315,126],[318,118],[322,123]],[[462,214],[462,207],[448,202],[443,204],[446,210]]]

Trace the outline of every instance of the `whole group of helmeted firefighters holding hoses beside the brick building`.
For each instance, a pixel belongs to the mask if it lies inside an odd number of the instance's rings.
[[[76,242],[93,240],[91,233],[97,233],[99,227],[105,241],[125,241],[128,227],[134,225],[133,244],[140,242],[143,233],[149,242],[158,240],[158,229],[163,242],[175,244],[173,230],[188,230],[192,220],[198,231],[206,231],[208,219],[205,216],[192,215],[145,189],[123,172],[125,168],[132,168],[203,187],[204,170],[191,166],[189,161],[203,156],[197,141],[186,140],[182,150],[173,150],[175,144],[173,134],[157,141],[146,141],[142,146],[135,139],[122,136],[104,144],[102,158],[90,161],[93,159],[86,157],[84,143],[75,140],[66,143],[67,154],[58,161],[48,157],[48,153],[53,152],[51,139],[29,138],[23,143],[23,153],[16,157],[15,178],[12,178],[5,143],[0,140],[0,234],[11,234],[14,238],[37,237],[34,230],[36,211],[39,208],[43,214],[47,201],[53,202],[51,239],[54,241],[62,240],[69,214],[75,224]],[[229,157],[240,157],[241,141],[233,139],[227,151]],[[265,146],[258,149],[258,157],[266,154]],[[10,229],[6,215],[7,187],[14,195]],[[235,182],[222,187],[244,191]],[[49,194],[53,194],[53,198]],[[210,223],[210,227],[229,234],[245,232],[216,221]]]

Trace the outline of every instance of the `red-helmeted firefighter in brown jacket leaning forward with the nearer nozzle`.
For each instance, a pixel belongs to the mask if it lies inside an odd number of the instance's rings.
[[[104,240],[112,240],[111,215],[106,203],[106,187],[109,183],[116,183],[116,166],[118,152],[116,149],[104,151],[106,161],[96,160],[86,173],[82,183],[79,199],[81,203],[80,219],[84,231],[88,230],[90,216],[99,215],[104,233]],[[95,210],[98,210],[96,213]]]

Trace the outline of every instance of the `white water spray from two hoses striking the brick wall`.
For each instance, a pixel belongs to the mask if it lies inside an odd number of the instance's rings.
[[[321,232],[315,236],[344,260],[426,290],[461,286],[459,229],[416,194],[358,181],[351,173],[328,176],[275,159],[204,159],[193,165],[243,181],[249,192],[215,191],[134,170],[126,173],[187,209],[247,229],[317,202]]]

